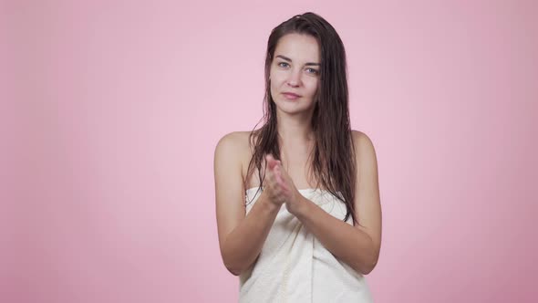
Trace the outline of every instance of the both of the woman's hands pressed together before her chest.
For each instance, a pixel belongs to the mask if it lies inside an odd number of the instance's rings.
[[[269,200],[281,206],[285,204],[290,214],[296,214],[299,206],[305,203],[301,193],[295,188],[290,176],[282,168],[282,163],[275,160],[271,154],[265,156],[267,170],[265,172],[265,188]]]

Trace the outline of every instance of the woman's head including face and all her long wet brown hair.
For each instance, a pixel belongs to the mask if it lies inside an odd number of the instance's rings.
[[[336,30],[314,13],[293,16],[274,27],[265,57],[264,125],[253,131],[253,158],[245,188],[254,169],[264,183],[264,156],[281,160],[277,110],[311,114],[314,149],[309,172],[316,187],[343,198],[345,220],[354,222],[356,162],[348,110],[346,51]],[[291,92],[301,98],[286,98]],[[254,127],[255,128],[255,127]],[[340,194],[339,194],[340,193]]]

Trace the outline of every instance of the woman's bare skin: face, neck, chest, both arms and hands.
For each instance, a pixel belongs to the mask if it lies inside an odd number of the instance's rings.
[[[366,134],[353,131],[357,151],[357,183],[354,201],[359,225],[348,225],[327,214],[298,192],[313,188],[308,172],[308,154],[313,146],[311,130],[313,96],[317,81],[313,66],[319,62],[316,39],[298,34],[281,38],[271,67],[271,92],[277,108],[281,159],[265,158],[268,171],[264,192],[246,214],[245,190],[260,184],[254,172],[243,188],[252,158],[249,132],[238,131],[222,137],[214,158],[216,213],[222,261],[233,275],[253,266],[280,207],[285,205],[316,238],[340,260],[367,275],[378,262],[381,245],[381,206],[378,164],[372,142]],[[279,58],[282,55],[286,59]],[[300,95],[288,99],[283,92]],[[283,163],[285,165],[283,165]]]

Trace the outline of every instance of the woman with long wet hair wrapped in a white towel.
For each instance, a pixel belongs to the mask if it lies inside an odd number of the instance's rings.
[[[272,31],[264,125],[214,159],[222,260],[241,302],[371,302],[381,206],[372,142],[349,123],[346,53],[321,16]]]

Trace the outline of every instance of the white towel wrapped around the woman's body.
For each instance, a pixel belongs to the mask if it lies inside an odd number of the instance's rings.
[[[260,193],[246,191],[246,212]],[[319,189],[299,190],[343,220],[346,204]],[[249,203],[250,202],[250,203]],[[351,216],[347,220],[351,223]],[[336,259],[283,205],[253,266],[239,277],[239,302],[373,302],[366,278]]]

